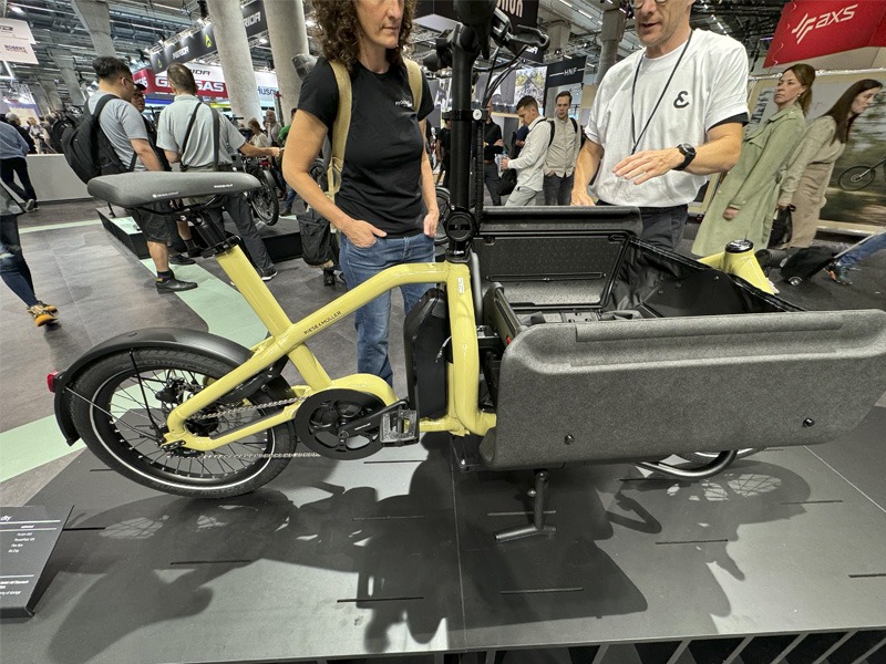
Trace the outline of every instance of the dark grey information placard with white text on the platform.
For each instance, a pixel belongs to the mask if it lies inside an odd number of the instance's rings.
[[[72,509],[0,507],[0,618],[34,614],[40,577]]]

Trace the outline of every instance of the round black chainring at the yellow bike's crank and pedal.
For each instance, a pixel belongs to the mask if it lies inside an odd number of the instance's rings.
[[[308,449],[330,459],[364,459],[382,448],[378,427],[359,436],[339,438],[346,424],[384,407],[374,394],[357,390],[323,390],[305,400],[296,413],[298,439]]]

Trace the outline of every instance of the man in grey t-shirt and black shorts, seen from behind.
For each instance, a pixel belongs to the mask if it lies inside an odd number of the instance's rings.
[[[99,92],[86,102],[86,110],[94,112],[102,97],[111,95],[99,118],[102,133],[107,137],[121,164],[128,170],[163,170],[147,139],[145,123],[130,102],[135,83],[126,63],[119,58],[96,58],[92,69],[99,77]],[[147,251],[157,270],[157,292],[169,293],[197,288],[193,281],[181,281],[169,269],[167,242],[172,239],[167,203],[157,203],[126,210],[144,234]]]

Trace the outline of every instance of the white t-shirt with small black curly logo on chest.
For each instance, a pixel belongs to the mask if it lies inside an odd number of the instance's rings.
[[[600,83],[585,134],[604,148],[593,191],[614,205],[671,207],[696,198],[703,175],[671,170],[641,185],[616,177],[612,168],[631,154],[631,101],[637,152],[689,143],[698,147],[714,125],[748,114],[748,54],[732,38],[694,30],[680,66],[683,45],[661,58],[632,53],[610,69]],[[637,87],[631,94],[637,68]],[[664,84],[673,77],[664,95]],[[658,110],[652,113],[661,97]],[[643,133],[647,121],[649,126]]]

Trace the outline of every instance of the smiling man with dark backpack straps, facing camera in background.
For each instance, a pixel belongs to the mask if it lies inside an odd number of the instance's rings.
[[[569,205],[578,151],[581,148],[581,127],[569,117],[573,95],[557,95],[555,116],[548,120],[550,139],[545,157],[545,205]]]

